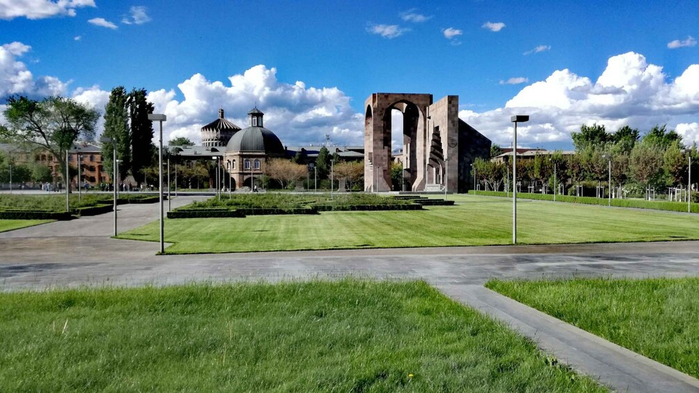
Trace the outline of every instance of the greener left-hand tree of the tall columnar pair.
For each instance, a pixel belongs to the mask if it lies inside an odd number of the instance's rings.
[[[131,169],[131,130],[129,128],[127,91],[123,86],[112,89],[109,101],[104,107],[103,136],[112,138],[113,142],[102,145],[102,162],[108,173],[114,172],[114,143],[117,146],[120,181],[126,179]],[[114,142],[115,141],[115,142]]]

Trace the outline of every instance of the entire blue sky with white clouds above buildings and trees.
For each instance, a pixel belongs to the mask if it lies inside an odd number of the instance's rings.
[[[526,146],[570,148],[594,121],[691,142],[698,37],[699,1],[0,0],[0,97],[102,109],[112,87],[145,87],[173,136],[198,138],[219,107],[244,126],[257,102],[287,144],[361,144],[371,93],[455,94],[503,145],[514,112],[531,114]]]

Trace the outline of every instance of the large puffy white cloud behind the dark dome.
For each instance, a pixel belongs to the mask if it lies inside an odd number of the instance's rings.
[[[178,84],[182,99],[174,89],[160,89],[151,91],[148,100],[168,117],[166,140],[185,136],[199,142],[199,128],[217,117],[219,107],[226,119],[245,128],[247,112],[257,103],[265,113],[265,127],[289,146],[322,142],[326,134],[338,144],[361,143],[363,117],[352,110],[343,91],[280,82],[276,74],[276,68],[264,65],[233,75],[226,83],[195,74]]]

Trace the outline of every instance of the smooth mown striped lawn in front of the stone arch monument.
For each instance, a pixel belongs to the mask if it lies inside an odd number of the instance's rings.
[[[418,211],[166,220],[166,253],[480,246],[512,242],[512,202],[449,195],[455,206]],[[517,205],[522,244],[699,239],[699,215],[541,201]],[[157,242],[158,223],[123,239]]]

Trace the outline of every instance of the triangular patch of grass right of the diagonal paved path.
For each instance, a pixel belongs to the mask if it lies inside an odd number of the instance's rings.
[[[487,287],[699,378],[699,277],[494,280]]]

